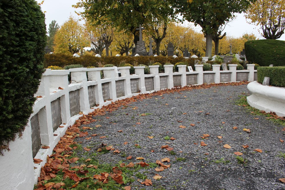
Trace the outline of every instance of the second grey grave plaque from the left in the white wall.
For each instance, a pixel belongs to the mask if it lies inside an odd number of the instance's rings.
[[[52,110],[52,128],[54,131],[62,124],[61,121],[61,109],[60,109],[60,97],[50,103]]]

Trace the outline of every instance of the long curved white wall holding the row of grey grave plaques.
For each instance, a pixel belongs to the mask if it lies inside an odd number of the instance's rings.
[[[149,67],[148,75],[144,74],[144,67],[135,67],[135,75],[130,75],[130,67],[119,67],[121,77],[113,67],[47,69],[35,94],[42,97],[34,104],[34,113],[22,138],[11,142],[11,151],[4,152],[5,156],[0,157],[3,171],[0,173],[1,189],[33,189],[40,175],[40,168],[46,163],[46,157],[52,154],[53,148],[68,126],[82,116],[78,114],[80,111],[88,114],[112,101],[175,86],[253,81],[256,72],[253,64],[247,65],[248,70],[240,71],[236,70],[237,65],[229,65],[229,71],[220,71],[220,65],[213,65],[213,71],[203,71],[203,65],[196,65],[194,72],[186,72],[186,65],[179,65],[178,72],[175,73],[172,70],[173,65],[165,65],[164,73],[158,73],[159,66]],[[100,77],[101,70],[104,73],[103,79]],[[41,145],[50,148],[42,149]],[[34,164],[33,155],[43,162]]]

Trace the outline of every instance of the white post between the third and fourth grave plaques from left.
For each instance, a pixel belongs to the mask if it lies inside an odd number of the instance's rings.
[[[87,111],[90,109],[88,86],[87,86],[87,68],[70,69],[71,83],[82,83],[82,88],[79,89],[80,111]]]

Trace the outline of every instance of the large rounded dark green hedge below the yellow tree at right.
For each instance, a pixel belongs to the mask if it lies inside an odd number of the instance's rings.
[[[285,41],[251,40],[245,42],[245,56],[251,64],[285,66]]]

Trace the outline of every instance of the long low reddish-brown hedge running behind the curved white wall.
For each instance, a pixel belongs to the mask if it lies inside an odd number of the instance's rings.
[[[64,67],[66,65],[74,65],[80,64],[84,67],[88,66],[95,66],[98,67],[98,63],[101,64],[113,64],[117,67],[123,66],[123,64],[132,64],[134,62],[138,62],[138,64],[144,65],[151,65],[151,63],[159,62],[164,65],[166,62],[170,62],[171,64],[176,64],[177,62],[184,62],[187,66],[192,66],[194,68],[195,60],[197,58],[189,58],[185,59],[183,57],[173,58],[173,57],[165,57],[165,56],[139,56],[139,57],[132,57],[132,56],[111,56],[111,57],[104,57],[101,58],[92,56],[92,55],[83,55],[81,57],[72,57],[72,55],[67,54],[46,54],[44,61],[44,66],[47,68],[48,66],[60,66]],[[201,60],[201,58],[199,58]]]

